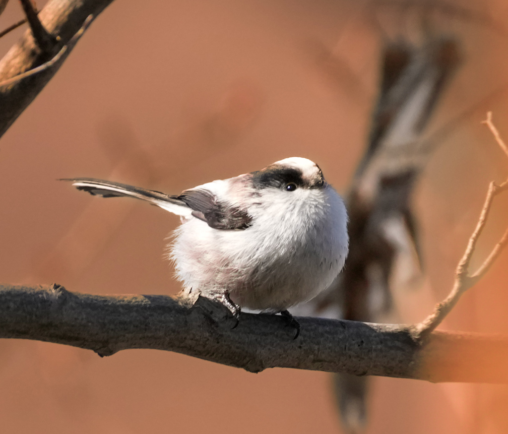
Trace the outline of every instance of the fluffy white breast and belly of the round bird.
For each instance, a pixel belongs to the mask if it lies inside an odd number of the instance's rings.
[[[264,195],[279,196],[249,207],[252,226],[245,230],[217,230],[194,218],[176,229],[170,257],[185,287],[204,295],[227,290],[242,307],[278,312],[333,282],[348,244],[339,195],[330,186]]]

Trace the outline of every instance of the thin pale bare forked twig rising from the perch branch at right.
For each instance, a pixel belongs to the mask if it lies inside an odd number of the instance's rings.
[[[506,148],[505,143],[501,139],[499,132],[495,128],[492,123],[492,113],[487,113],[487,119],[483,121],[485,123],[499,147],[503,150],[508,157],[508,149]],[[475,251],[475,247],[480,239],[480,236],[487,224],[487,220],[489,217],[490,210],[492,208],[492,203],[494,198],[501,192],[508,189],[508,179],[501,184],[496,184],[492,181],[489,184],[489,190],[487,191],[487,196],[485,198],[485,203],[482,208],[482,212],[480,213],[480,218],[478,219],[477,226],[475,227],[469,241],[467,243],[466,250],[464,255],[462,256],[459,264],[457,265],[457,269],[455,271],[455,281],[452,288],[452,291],[448,295],[446,299],[438,303],[434,309],[434,312],[429,315],[425,320],[421,323],[414,326],[415,337],[425,340],[428,335],[435,330],[435,328],[442,322],[442,320],[450,313],[452,308],[457,304],[460,297],[464,292],[466,292],[469,288],[471,288],[474,284],[476,284],[490,269],[494,261],[500,255],[504,246],[508,243],[508,229],[505,230],[504,234],[501,236],[500,240],[496,243],[491,253],[487,256],[487,259],[483,262],[480,268],[474,272],[470,273],[469,264],[472,258],[472,255]]]

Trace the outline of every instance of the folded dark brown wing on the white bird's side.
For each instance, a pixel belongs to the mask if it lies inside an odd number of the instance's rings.
[[[215,194],[203,188],[189,189],[178,196],[193,209],[192,215],[215,229],[247,229],[252,221],[245,209],[220,201]]]

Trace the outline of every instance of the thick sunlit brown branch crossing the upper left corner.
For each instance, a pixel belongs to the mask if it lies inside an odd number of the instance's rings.
[[[28,19],[31,19],[31,25],[36,29],[39,42],[36,42],[31,30],[27,30],[0,60],[0,137],[59,69],[79,39],[76,35],[86,27],[83,23],[87,17],[97,16],[111,2],[112,0],[50,0],[39,15],[31,13],[34,11],[28,12],[31,16]],[[43,34],[47,34],[47,38]],[[44,42],[53,39],[55,43],[52,46]],[[39,44],[45,48],[41,49]],[[56,60],[54,57],[48,59],[48,56],[54,54]],[[48,65],[48,60],[53,60],[53,63]],[[44,64],[46,66],[36,70],[37,73],[29,73]]]

